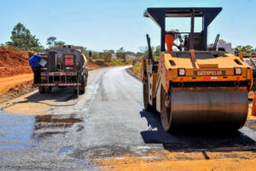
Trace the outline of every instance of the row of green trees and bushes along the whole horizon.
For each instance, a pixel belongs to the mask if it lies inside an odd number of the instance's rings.
[[[55,45],[65,45],[66,43],[63,41],[56,41],[56,37],[49,37],[47,38],[47,45],[50,47],[55,46]],[[11,37],[10,41],[6,43],[1,43],[0,44],[1,48],[12,48],[17,51],[20,50],[31,50],[31,51],[36,51],[39,52],[40,50],[44,49],[44,46],[41,45],[39,42],[39,39],[35,36],[32,35],[31,31],[26,28],[23,24],[20,22],[15,25],[13,31],[11,31]],[[159,57],[160,54],[160,46],[152,47],[152,51],[154,54],[155,58]],[[253,48],[251,45],[246,45],[246,46],[236,46],[235,50],[237,52],[243,52],[245,54],[252,54],[253,52],[256,51],[256,48]],[[102,52],[98,52],[96,54],[93,54],[92,58],[97,59],[97,58],[102,58],[102,56],[107,55],[108,59],[110,54],[115,54],[117,58],[120,59],[125,59],[125,56],[127,54],[135,56],[135,57],[146,57],[148,56],[148,48],[143,47],[140,48],[141,52],[132,52],[132,51],[125,51],[125,48],[119,48],[118,50],[114,51],[113,49],[109,50],[103,50]]]

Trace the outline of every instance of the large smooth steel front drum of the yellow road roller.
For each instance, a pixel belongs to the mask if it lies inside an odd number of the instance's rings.
[[[168,100],[170,98],[170,100]],[[166,131],[210,128],[236,130],[247,119],[247,92],[160,92],[161,123]]]

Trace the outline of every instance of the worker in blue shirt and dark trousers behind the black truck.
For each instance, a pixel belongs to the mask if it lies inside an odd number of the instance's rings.
[[[28,52],[28,57],[29,65],[32,67],[32,71],[34,72],[34,83],[41,83],[40,67],[38,63],[38,60],[41,59],[41,55]]]

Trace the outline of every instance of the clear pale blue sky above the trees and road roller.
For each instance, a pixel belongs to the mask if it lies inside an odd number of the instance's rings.
[[[256,0],[0,0],[0,43],[9,41],[21,22],[46,46],[51,36],[65,43],[93,50],[139,51],[148,33],[152,45],[160,44],[160,28],[143,11],[149,7],[223,7],[209,27],[208,43],[220,38],[256,48]],[[184,20],[172,20],[170,28],[188,30]],[[188,25],[189,26],[189,25]]]

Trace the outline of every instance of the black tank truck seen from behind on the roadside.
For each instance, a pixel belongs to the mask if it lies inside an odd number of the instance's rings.
[[[88,70],[83,47],[54,46],[39,54],[41,82],[36,86],[40,94],[51,93],[53,87],[73,87],[74,92],[84,93]]]

